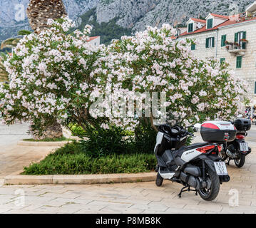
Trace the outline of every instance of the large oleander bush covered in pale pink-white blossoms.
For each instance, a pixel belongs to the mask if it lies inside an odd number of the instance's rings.
[[[49,19],[48,25],[24,36],[4,62],[10,83],[0,86],[0,112],[7,124],[29,121],[34,135],[55,120],[76,125],[88,135],[86,156],[102,157],[152,152],[155,113],[146,115],[148,106],[138,105],[138,93],[144,101],[145,93],[150,98],[165,93],[157,106],[166,109],[160,115],[171,124],[228,120],[240,110],[242,81],[226,64],[196,59],[190,51],[195,41],[174,40],[168,24],[148,26],[108,46],[87,42],[91,26],[71,32],[73,22],[66,17]],[[136,101],[135,113],[128,112],[127,100]]]

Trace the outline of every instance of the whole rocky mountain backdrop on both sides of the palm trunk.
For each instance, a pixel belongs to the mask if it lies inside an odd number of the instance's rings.
[[[191,17],[204,18],[210,12],[231,15],[242,12],[254,0],[63,0],[68,15],[78,26],[96,21],[114,23],[128,31],[140,31],[146,25],[185,24]],[[0,0],[0,41],[29,28],[26,6],[29,0]],[[91,16],[83,16],[93,9]],[[85,21],[86,19],[86,21]],[[100,30],[99,30],[100,31]],[[111,34],[111,29],[109,30]],[[99,33],[98,35],[101,35]],[[111,36],[111,35],[110,35]]]

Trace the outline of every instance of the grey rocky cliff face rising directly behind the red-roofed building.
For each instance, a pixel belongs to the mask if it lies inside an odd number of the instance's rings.
[[[146,25],[184,24],[189,17],[205,17],[210,12],[232,15],[245,10],[254,0],[101,0],[97,21],[118,17],[117,24],[140,31]]]

